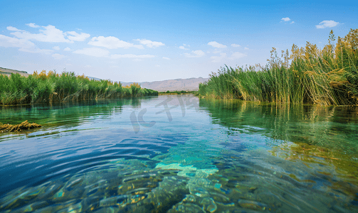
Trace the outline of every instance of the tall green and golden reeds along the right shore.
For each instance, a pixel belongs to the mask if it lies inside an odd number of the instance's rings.
[[[322,50],[307,42],[293,44],[279,56],[276,49],[265,67],[225,65],[199,84],[199,96],[285,104],[358,104],[358,29],[344,37],[330,32]]]

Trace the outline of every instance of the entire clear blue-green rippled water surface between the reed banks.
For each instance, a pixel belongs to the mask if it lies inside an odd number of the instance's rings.
[[[0,212],[358,212],[358,108],[194,96],[3,107]]]

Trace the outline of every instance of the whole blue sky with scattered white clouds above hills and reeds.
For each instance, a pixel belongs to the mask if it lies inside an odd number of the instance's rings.
[[[354,1],[0,0],[0,67],[122,82],[209,77],[350,28]]]

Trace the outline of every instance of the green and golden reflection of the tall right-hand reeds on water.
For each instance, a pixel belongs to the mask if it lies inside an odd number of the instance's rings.
[[[358,107],[269,105],[200,99],[202,110],[228,133],[260,133],[273,139],[358,152]]]

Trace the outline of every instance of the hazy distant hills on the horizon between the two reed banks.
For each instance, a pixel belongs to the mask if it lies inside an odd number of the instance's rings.
[[[209,78],[196,77],[188,79],[174,79],[174,80],[164,80],[156,82],[139,82],[142,88],[154,89],[158,92],[167,92],[169,91],[197,91],[199,90],[199,83],[203,83],[209,80]],[[123,86],[132,84],[133,82],[121,82]]]

